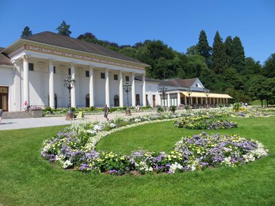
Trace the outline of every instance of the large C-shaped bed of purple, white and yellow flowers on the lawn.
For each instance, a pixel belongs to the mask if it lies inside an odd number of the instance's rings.
[[[194,113],[148,115],[143,117],[118,118],[112,122],[76,122],[47,139],[41,156],[61,168],[73,168],[83,172],[108,174],[144,174],[147,172],[186,172],[202,170],[208,166],[236,166],[267,155],[267,150],[258,141],[248,141],[237,135],[193,135],[184,137],[175,144],[175,149],[165,152],[133,151],[131,155],[114,152],[97,152],[100,139],[118,130],[169,121]]]

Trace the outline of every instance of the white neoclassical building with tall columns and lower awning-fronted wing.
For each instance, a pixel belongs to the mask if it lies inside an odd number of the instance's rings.
[[[146,67],[149,65],[101,45],[41,32],[0,47],[0,108],[22,111],[24,101],[65,108],[69,91],[63,80],[69,75],[76,80],[71,92],[74,107],[126,106],[125,82],[131,84],[130,106],[206,103],[205,88],[198,78],[149,79],[145,77]],[[159,93],[161,86],[167,87],[164,97]],[[192,89],[191,95],[186,93],[188,89]],[[230,96],[212,93],[208,98],[217,104],[227,102]]]

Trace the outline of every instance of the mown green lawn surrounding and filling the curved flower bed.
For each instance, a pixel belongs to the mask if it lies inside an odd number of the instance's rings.
[[[234,121],[238,128],[219,133],[258,139],[270,156],[238,168],[173,175],[61,170],[44,161],[40,150],[43,140],[64,126],[0,131],[0,205],[274,205],[275,117]],[[98,149],[169,151],[181,137],[199,132],[174,128],[172,122],[148,124],[113,133]]]

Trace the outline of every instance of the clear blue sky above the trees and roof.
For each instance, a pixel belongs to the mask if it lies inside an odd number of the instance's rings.
[[[275,53],[274,0],[0,0],[0,47],[14,43],[26,25],[33,34],[56,32],[63,20],[72,37],[91,32],[119,45],[155,39],[186,52],[201,30],[212,46],[218,30],[223,41],[239,36],[245,56],[261,63]]]

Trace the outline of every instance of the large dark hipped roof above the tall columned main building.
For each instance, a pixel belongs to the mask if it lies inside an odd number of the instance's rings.
[[[131,58],[129,56],[124,56],[123,54],[115,52],[111,49],[107,49],[106,47],[103,47],[102,45],[98,45],[96,43],[89,43],[87,41],[82,41],[77,38],[64,36],[62,34],[56,34],[54,32],[41,32],[38,34],[34,34],[32,36],[27,36],[23,39],[26,39],[28,41],[45,43],[47,45],[64,47],[67,49],[74,49],[74,50],[78,50],[80,52],[88,52],[91,54],[98,54],[101,56],[109,56],[111,58],[118,58],[120,60],[127,60],[130,62],[136,62],[139,64],[146,65],[143,62],[140,62],[139,60],[135,60],[134,58]]]

